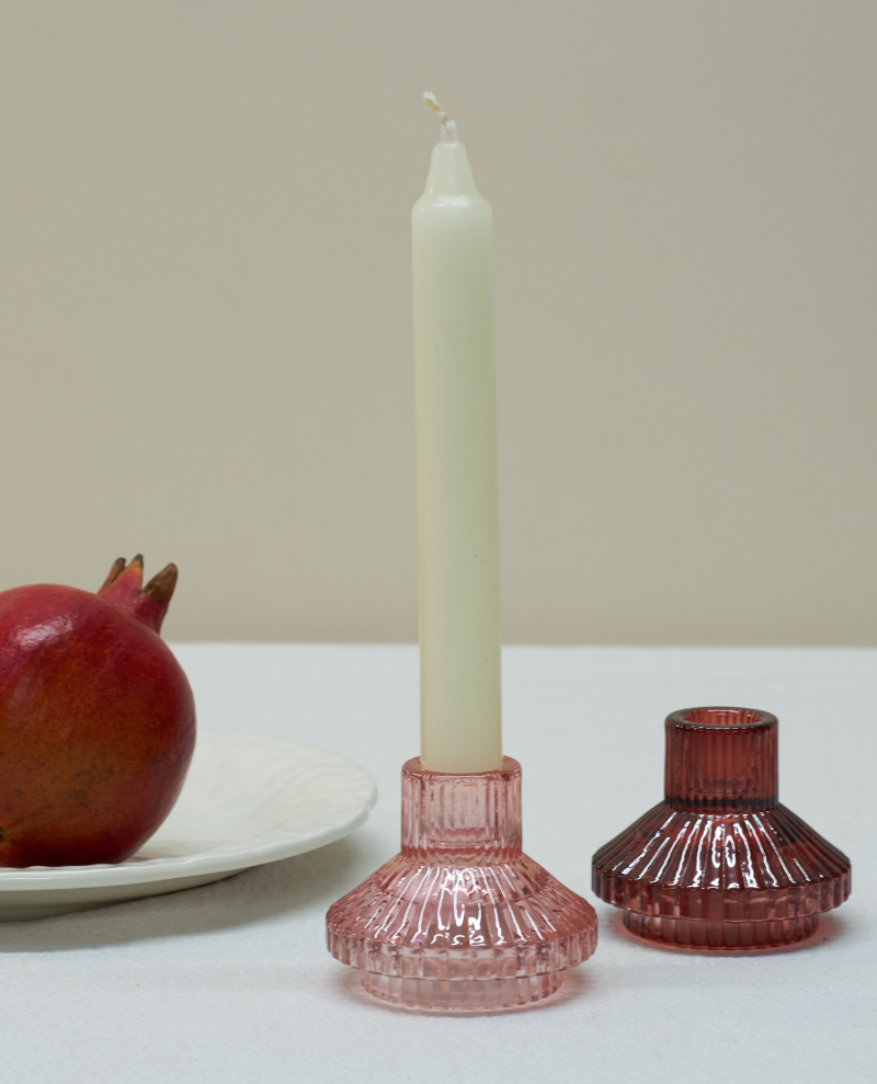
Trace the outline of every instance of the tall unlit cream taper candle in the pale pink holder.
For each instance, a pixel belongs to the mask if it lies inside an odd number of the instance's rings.
[[[412,212],[421,760],[502,763],[492,213],[443,119]]]

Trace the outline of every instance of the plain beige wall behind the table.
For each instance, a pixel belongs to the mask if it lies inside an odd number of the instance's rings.
[[[497,237],[508,640],[877,642],[873,0],[2,0],[0,587],[417,635],[409,209]]]

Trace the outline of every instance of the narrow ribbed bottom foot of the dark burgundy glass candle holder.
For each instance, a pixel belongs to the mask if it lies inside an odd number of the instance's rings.
[[[716,951],[779,948],[809,937],[819,925],[818,914],[775,922],[705,922],[692,918],[664,918],[660,915],[625,911],[624,924],[631,934],[664,945],[683,948],[711,948]]]

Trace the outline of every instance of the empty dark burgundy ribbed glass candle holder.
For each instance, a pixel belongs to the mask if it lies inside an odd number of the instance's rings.
[[[667,717],[662,802],[601,847],[593,888],[652,942],[718,950],[809,937],[850,894],[850,859],[777,800],[777,720]]]

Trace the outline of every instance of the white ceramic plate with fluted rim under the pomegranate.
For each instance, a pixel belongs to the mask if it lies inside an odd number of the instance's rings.
[[[340,840],[377,788],[335,753],[278,738],[198,731],[183,792],[161,828],[117,865],[0,869],[0,922],[160,895]]]

